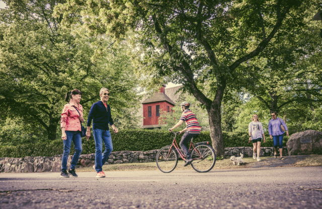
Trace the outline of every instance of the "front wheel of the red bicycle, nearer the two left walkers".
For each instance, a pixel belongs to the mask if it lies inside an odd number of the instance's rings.
[[[178,154],[175,149],[170,147],[161,148],[156,154],[156,165],[164,173],[175,170],[178,163]]]

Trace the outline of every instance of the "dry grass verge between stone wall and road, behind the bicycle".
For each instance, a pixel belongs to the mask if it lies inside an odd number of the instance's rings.
[[[261,157],[266,159],[269,157]],[[237,169],[247,168],[250,163],[256,162],[253,158],[244,158],[244,164],[240,166],[233,165],[229,159],[217,160],[213,169]],[[179,161],[175,170],[193,170],[191,166],[184,167],[184,161]],[[104,165],[103,171],[152,171],[158,170],[156,162],[153,163],[127,163],[127,164],[115,164],[115,165]],[[77,172],[95,172],[93,167],[78,168]]]

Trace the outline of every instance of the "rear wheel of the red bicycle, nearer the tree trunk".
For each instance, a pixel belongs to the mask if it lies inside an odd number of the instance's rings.
[[[199,173],[210,171],[216,163],[216,154],[214,149],[209,145],[198,145],[191,152],[191,166]]]

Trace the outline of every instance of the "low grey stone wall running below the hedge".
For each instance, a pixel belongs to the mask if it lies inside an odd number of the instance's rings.
[[[149,163],[155,162],[158,150],[142,151],[120,151],[112,152],[105,165],[121,163]],[[285,152],[285,153],[284,153]],[[244,153],[244,157],[253,157],[253,148],[235,147],[225,148],[226,157],[237,156]],[[287,150],[283,149],[283,155]],[[274,156],[273,148],[261,148],[260,156]],[[61,157],[25,157],[25,158],[0,158],[0,172],[60,172]],[[70,166],[72,156],[68,156],[67,169]],[[91,167],[95,164],[95,154],[81,155],[77,162],[77,168]],[[94,171],[94,170],[93,170]]]

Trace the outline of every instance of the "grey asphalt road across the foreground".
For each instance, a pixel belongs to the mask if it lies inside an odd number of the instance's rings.
[[[0,208],[322,208],[322,167],[1,173]],[[68,190],[79,190],[63,192]]]

